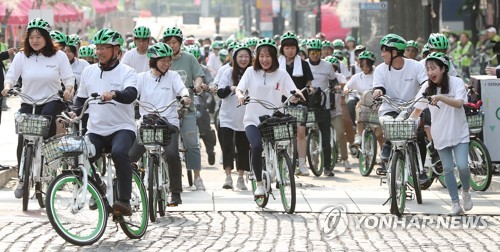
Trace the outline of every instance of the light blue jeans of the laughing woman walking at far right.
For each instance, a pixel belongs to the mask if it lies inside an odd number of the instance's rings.
[[[438,153],[441,163],[443,164],[446,187],[448,188],[451,202],[457,203],[460,199],[458,198],[457,180],[455,178],[455,173],[453,172],[453,169],[455,168],[453,156],[455,156],[460,181],[462,182],[462,188],[464,190],[469,190],[470,170],[467,164],[469,158],[469,143],[461,143],[453,147],[446,147],[442,150],[438,150]]]

